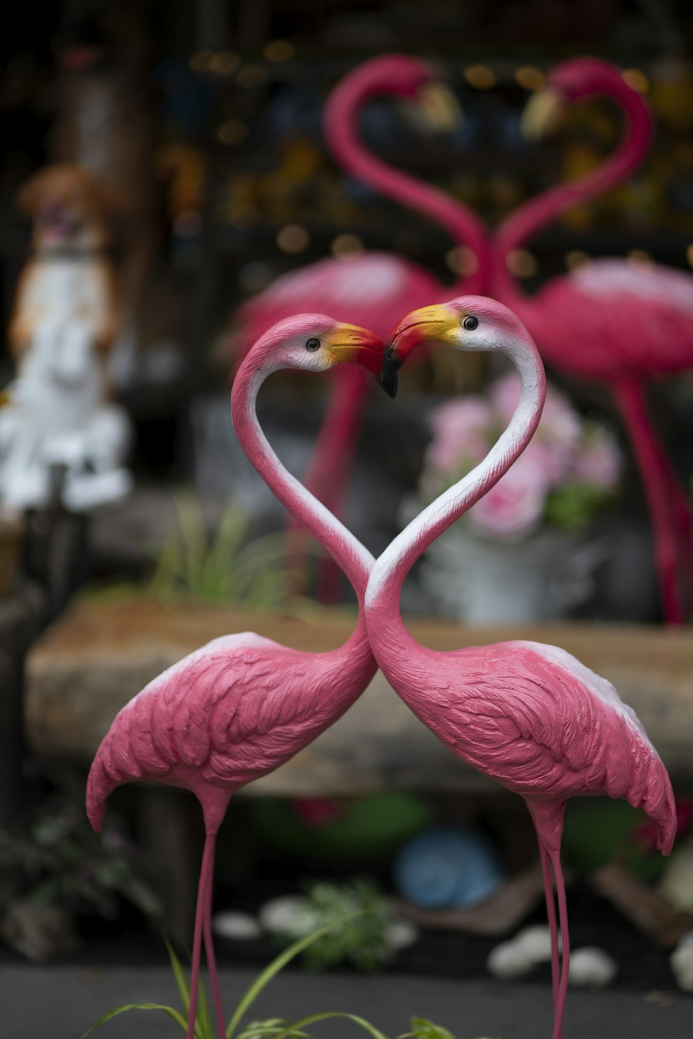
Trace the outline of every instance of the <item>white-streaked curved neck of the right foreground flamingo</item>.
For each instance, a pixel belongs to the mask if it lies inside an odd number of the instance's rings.
[[[400,613],[404,579],[432,542],[498,483],[529,444],[537,427],[547,389],[537,349],[527,340],[510,339],[503,352],[519,373],[519,402],[507,429],[482,462],[441,495],[399,534],[375,562],[366,592],[366,620],[375,658],[388,673],[397,668],[404,646],[421,645],[407,632]]]

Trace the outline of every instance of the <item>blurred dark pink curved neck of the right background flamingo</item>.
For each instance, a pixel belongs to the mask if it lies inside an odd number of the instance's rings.
[[[614,154],[596,169],[567,184],[550,188],[536,198],[531,198],[511,213],[498,229],[494,246],[494,286],[499,298],[504,299],[513,309],[517,304],[523,310],[526,297],[508,270],[506,263],[508,251],[527,242],[571,204],[592,198],[614,184],[618,184],[640,165],[647,154],[652,135],[652,121],[649,109],[640,95],[620,76],[601,79],[598,87],[590,92],[611,98],[621,109],[625,116],[623,139]]]

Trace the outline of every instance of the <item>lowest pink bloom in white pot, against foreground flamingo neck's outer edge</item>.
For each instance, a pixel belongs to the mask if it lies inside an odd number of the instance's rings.
[[[525,453],[470,509],[470,526],[488,537],[508,540],[527,537],[541,525],[548,489],[542,465]]]

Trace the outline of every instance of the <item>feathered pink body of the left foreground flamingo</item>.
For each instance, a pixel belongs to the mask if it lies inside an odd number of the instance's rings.
[[[196,649],[113,720],[89,771],[91,825],[101,829],[108,795],[133,780],[189,790],[206,820],[223,817],[234,791],[278,768],[343,714],[373,676],[369,657],[344,671],[330,655],[252,632]]]

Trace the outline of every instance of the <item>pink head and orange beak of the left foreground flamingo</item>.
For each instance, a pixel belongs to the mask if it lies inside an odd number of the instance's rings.
[[[335,321],[324,314],[298,314],[273,325],[247,355],[262,359],[274,370],[300,369],[326,372],[336,365],[354,364],[371,372],[391,397],[397,393],[397,377],[381,375],[381,339],[367,328]]]

